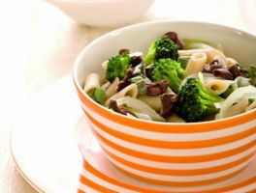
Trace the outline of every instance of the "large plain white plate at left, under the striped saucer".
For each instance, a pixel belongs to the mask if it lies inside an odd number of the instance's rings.
[[[33,97],[12,130],[16,169],[39,192],[78,191],[82,158],[74,130],[83,118],[72,77]]]

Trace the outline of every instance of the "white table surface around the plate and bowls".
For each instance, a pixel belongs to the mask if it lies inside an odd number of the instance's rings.
[[[156,0],[136,22],[201,20],[256,35],[255,10],[255,0]],[[12,125],[35,93],[71,73],[84,45],[113,28],[82,26],[44,0],[1,1],[0,26],[0,192],[36,193],[16,171]]]

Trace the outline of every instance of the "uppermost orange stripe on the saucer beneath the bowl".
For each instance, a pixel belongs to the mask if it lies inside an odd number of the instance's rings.
[[[157,190],[150,190],[147,188],[142,188],[142,187],[138,187],[138,186],[134,186],[132,184],[128,184],[128,183],[124,183],[121,182],[119,180],[116,179],[112,179],[110,177],[108,177],[107,175],[101,173],[100,171],[96,170],[95,168],[93,168],[88,162],[84,161],[83,163],[83,168],[84,170],[88,171],[89,173],[93,174],[94,176],[98,177],[99,179],[104,179],[114,185],[118,185],[120,187],[124,187],[130,190],[134,190],[134,191],[138,191],[138,192],[150,192],[150,193],[167,193],[170,191],[157,191]],[[220,193],[220,192],[224,192],[224,191],[230,191],[230,190],[235,190],[244,186],[247,186],[253,182],[256,181],[256,176],[251,178],[251,179],[246,179],[244,181],[241,181],[240,183],[234,184],[234,185],[229,185],[226,187],[221,187],[221,188],[215,188],[214,190],[205,190],[205,191],[182,191],[182,193]],[[173,193],[181,193],[178,191],[173,191]]]

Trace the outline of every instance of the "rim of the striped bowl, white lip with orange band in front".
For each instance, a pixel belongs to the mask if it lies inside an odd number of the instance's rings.
[[[104,39],[106,39],[109,36],[114,36],[114,34],[119,34],[119,33],[124,33],[125,31],[132,29],[132,28],[137,28],[140,26],[146,26],[146,25],[154,25],[154,24],[159,24],[159,23],[166,23],[166,24],[170,24],[170,23],[182,23],[182,24],[200,24],[200,25],[209,25],[209,26],[214,26],[214,27],[218,27],[218,28],[225,28],[226,30],[231,30],[231,31],[236,31],[239,34],[243,34],[245,36],[248,36],[250,38],[256,39],[256,36],[254,36],[253,34],[250,34],[248,32],[242,31],[240,29],[231,27],[231,26],[227,26],[227,25],[222,25],[222,24],[217,24],[217,23],[213,23],[213,22],[202,22],[202,21],[190,21],[190,20],[172,20],[172,19],[163,19],[163,20],[154,20],[154,21],[146,21],[146,22],[141,22],[141,23],[136,23],[136,24],[132,24],[132,25],[128,25],[125,27],[121,27],[118,29],[115,29],[111,32],[108,32],[107,34],[89,42],[88,44],[86,44],[80,51],[80,54],[77,56],[75,63],[74,63],[74,68],[73,68],[73,81],[75,84],[75,87],[77,89],[77,91],[81,94],[82,97],[86,98],[88,101],[90,101],[94,106],[96,105],[96,107],[100,108],[103,112],[108,113],[112,116],[116,116],[116,118],[122,118],[122,119],[127,119],[127,121],[132,121],[135,123],[144,123],[144,124],[155,124],[155,125],[168,125],[168,126],[197,126],[197,125],[208,125],[208,124],[216,124],[216,123],[224,123],[224,122],[230,122],[230,121],[236,121],[239,118],[243,118],[246,116],[251,116],[252,114],[256,113],[256,109],[250,110],[248,112],[244,112],[241,113],[239,115],[236,116],[232,116],[229,118],[224,118],[224,119],[220,119],[220,120],[212,120],[212,121],[206,121],[206,122],[196,122],[196,123],[166,123],[166,122],[155,122],[155,121],[146,121],[146,120],[141,120],[141,119],[133,119],[130,117],[127,117],[125,115],[121,115],[119,113],[116,112],[112,112],[110,111],[108,108],[106,108],[105,106],[102,106],[100,104],[98,104],[97,102],[95,102],[91,97],[89,97],[88,95],[86,95],[81,86],[80,86],[80,81],[78,78],[78,69],[80,67],[80,61],[83,58],[83,55],[85,52],[87,52],[90,47],[92,45],[94,45],[95,43],[97,43],[98,41],[102,41]]]

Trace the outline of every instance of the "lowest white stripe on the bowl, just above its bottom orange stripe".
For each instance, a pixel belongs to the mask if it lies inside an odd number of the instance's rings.
[[[168,175],[152,174],[152,173],[147,173],[147,172],[137,170],[137,169],[131,168],[129,166],[123,165],[122,163],[112,159],[110,156],[108,156],[108,158],[117,167],[119,167],[119,168],[123,169],[124,171],[127,171],[131,174],[134,174],[136,176],[144,177],[147,179],[162,180],[162,181],[189,182],[189,181],[197,181],[197,180],[217,179],[217,178],[221,178],[221,177],[230,175],[232,173],[239,171],[246,165],[248,165],[254,157],[251,157],[249,160],[247,160],[247,161],[241,163],[240,165],[233,167],[231,169],[228,169],[228,170],[225,170],[222,172],[211,173],[209,175],[200,175],[200,176],[168,176]]]

